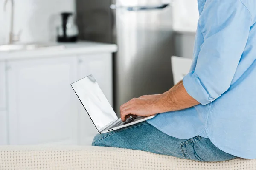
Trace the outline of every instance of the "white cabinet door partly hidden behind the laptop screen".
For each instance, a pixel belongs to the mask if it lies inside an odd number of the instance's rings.
[[[92,54],[79,56],[79,79],[93,74],[103,93],[113,106],[112,54]],[[98,133],[87,112],[79,102],[79,144],[90,145]]]

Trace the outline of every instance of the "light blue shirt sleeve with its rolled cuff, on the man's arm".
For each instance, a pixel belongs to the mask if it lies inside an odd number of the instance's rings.
[[[249,37],[251,20],[252,15],[240,0],[206,1],[198,20],[204,42],[195,58],[195,70],[183,78],[187,93],[202,105],[230,88]]]

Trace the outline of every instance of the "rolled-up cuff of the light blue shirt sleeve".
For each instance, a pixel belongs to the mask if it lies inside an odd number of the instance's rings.
[[[205,89],[195,71],[189,72],[189,74],[183,78],[183,85],[187,93],[202,105],[207,105],[214,100],[214,98],[210,97],[208,94],[207,89]]]

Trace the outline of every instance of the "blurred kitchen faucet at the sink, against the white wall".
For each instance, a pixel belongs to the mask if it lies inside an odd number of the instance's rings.
[[[12,3],[12,6],[11,6],[11,27],[10,27],[10,32],[9,32],[8,44],[13,44],[13,42],[20,40],[21,31],[19,31],[18,35],[13,34],[14,0],[5,0],[5,2],[4,2],[4,11],[6,11],[6,5],[7,5],[8,1],[11,1],[11,3]]]

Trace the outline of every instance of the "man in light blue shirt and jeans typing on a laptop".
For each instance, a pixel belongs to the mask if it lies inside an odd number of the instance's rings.
[[[256,158],[256,0],[198,0],[189,74],[169,91],[123,104],[155,118],[97,135],[93,145],[196,161]]]

